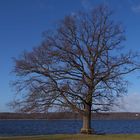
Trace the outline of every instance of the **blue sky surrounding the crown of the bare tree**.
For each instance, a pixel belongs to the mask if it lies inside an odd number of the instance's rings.
[[[14,79],[12,57],[31,50],[41,42],[42,32],[53,28],[65,15],[105,3],[115,11],[114,18],[126,29],[128,49],[140,51],[140,0],[0,0],[0,111],[14,97],[9,86]],[[132,83],[125,102],[127,111],[140,111],[140,74],[130,75]],[[139,102],[139,108],[137,108]],[[135,110],[131,106],[136,106]]]

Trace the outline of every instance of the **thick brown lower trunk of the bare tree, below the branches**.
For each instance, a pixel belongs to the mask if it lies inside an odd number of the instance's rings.
[[[81,129],[82,134],[92,134],[91,128],[91,106],[85,105],[85,113],[83,114],[83,127]]]

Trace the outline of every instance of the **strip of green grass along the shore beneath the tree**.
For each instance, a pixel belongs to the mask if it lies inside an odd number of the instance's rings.
[[[35,137],[0,137],[0,140],[140,140],[140,135],[48,135]]]

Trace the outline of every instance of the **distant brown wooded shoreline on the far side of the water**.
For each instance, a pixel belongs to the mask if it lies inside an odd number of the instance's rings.
[[[54,112],[54,113],[0,113],[0,119],[82,119],[76,113],[72,112]],[[140,113],[93,113],[94,120],[116,120],[116,119],[140,119]]]

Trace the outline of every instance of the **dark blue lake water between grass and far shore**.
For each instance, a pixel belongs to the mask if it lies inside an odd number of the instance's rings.
[[[79,133],[80,120],[0,120],[0,136]],[[140,120],[94,120],[97,133],[140,133]]]

